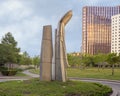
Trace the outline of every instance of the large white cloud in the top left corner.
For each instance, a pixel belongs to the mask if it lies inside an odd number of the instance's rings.
[[[27,8],[20,0],[7,0],[0,3],[0,18],[19,21],[32,14],[32,9]]]

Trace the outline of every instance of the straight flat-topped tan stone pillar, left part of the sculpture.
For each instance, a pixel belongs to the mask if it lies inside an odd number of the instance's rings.
[[[52,27],[51,25],[47,25],[47,26],[43,26],[41,57],[40,57],[40,80],[51,81],[52,56],[53,56]]]

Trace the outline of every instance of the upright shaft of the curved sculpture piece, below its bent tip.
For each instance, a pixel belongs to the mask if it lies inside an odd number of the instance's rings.
[[[59,28],[56,32],[56,46],[55,46],[55,79],[57,81],[66,81],[66,66],[64,58],[64,24],[59,24]]]

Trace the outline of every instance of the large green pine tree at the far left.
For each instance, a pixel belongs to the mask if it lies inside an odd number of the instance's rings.
[[[15,41],[14,37],[10,32],[5,34],[2,37],[1,41],[1,50],[0,50],[0,58],[3,63],[19,63],[19,52],[20,48],[17,48],[17,41]],[[2,59],[3,58],[3,59]]]

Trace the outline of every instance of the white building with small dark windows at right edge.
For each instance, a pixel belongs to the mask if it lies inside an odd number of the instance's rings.
[[[120,14],[112,16],[111,53],[120,53]]]

